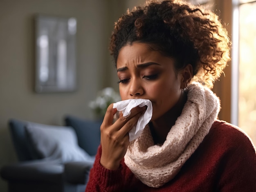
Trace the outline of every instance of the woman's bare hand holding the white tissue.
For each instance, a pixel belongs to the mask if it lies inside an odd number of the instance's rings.
[[[100,163],[103,167],[110,170],[119,168],[120,162],[124,158],[130,143],[128,132],[145,111],[146,106],[135,107],[131,110],[130,116],[124,118],[120,114],[117,121],[112,123],[117,109],[113,109],[113,104],[108,107],[101,124],[102,154]]]

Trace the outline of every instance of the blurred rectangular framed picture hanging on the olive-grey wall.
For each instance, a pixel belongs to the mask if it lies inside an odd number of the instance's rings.
[[[76,90],[76,18],[35,16],[37,93]]]

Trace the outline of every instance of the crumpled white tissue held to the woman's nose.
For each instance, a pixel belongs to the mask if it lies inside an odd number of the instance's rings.
[[[114,103],[113,108],[117,108],[117,111],[121,111],[123,116],[127,118],[130,115],[130,111],[134,107],[143,107],[147,105],[148,108],[146,112],[139,118],[138,122],[135,124],[134,127],[129,132],[129,141],[132,141],[139,137],[142,133],[145,126],[149,123],[150,119],[152,118],[153,107],[152,103],[148,99],[128,99],[128,100],[121,100],[117,103]]]

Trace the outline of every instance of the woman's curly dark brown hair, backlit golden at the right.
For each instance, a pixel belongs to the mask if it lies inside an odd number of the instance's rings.
[[[133,42],[173,58],[176,71],[191,64],[193,81],[207,87],[213,87],[230,60],[231,42],[218,16],[178,0],[146,1],[115,22],[109,46],[115,64],[120,49]]]

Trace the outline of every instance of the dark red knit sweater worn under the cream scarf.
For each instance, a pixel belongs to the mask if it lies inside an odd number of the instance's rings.
[[[101,166],[99,147],[86,192],[256,192],[256,153],[250,140],[224,121],[215,121],[180,172],[151,188],[121,161],[118,170]]]

